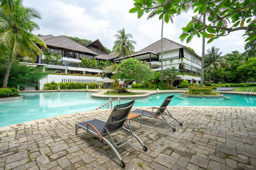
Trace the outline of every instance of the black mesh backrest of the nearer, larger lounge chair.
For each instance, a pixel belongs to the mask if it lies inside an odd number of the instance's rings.
[[[102,135],[107,134],[108,132],[113,133],[122,129],[134,102],[135,101],[131,101],[129,103],[116,105],[113,108],[106,124],[104,125]],[[108,132],[106,129],[108,129]]]

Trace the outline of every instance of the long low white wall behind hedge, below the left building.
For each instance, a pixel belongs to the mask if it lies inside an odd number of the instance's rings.
[[[65,83],[65,82],[79,82],[79,83],[92,83],[92,82],[100,82],[102,83],[105,79],[98,76],[69,76],[69,75],[57,75],[57,74],[49,74],[45,78],[39,81],[39,89],[43,90],[45,83],[51,83],[54,81],[55,83]]]

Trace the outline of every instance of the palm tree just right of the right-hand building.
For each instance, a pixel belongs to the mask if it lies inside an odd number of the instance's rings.
[[[214,69],[218,69],[221,66],[229,67],[228,62],[221,56],[219,50],[220,48],[212,46],[212,48],[208,48],[207,55],[205,55],[204,70],[205,72],[211,71],[213,83],[215,80]]]

